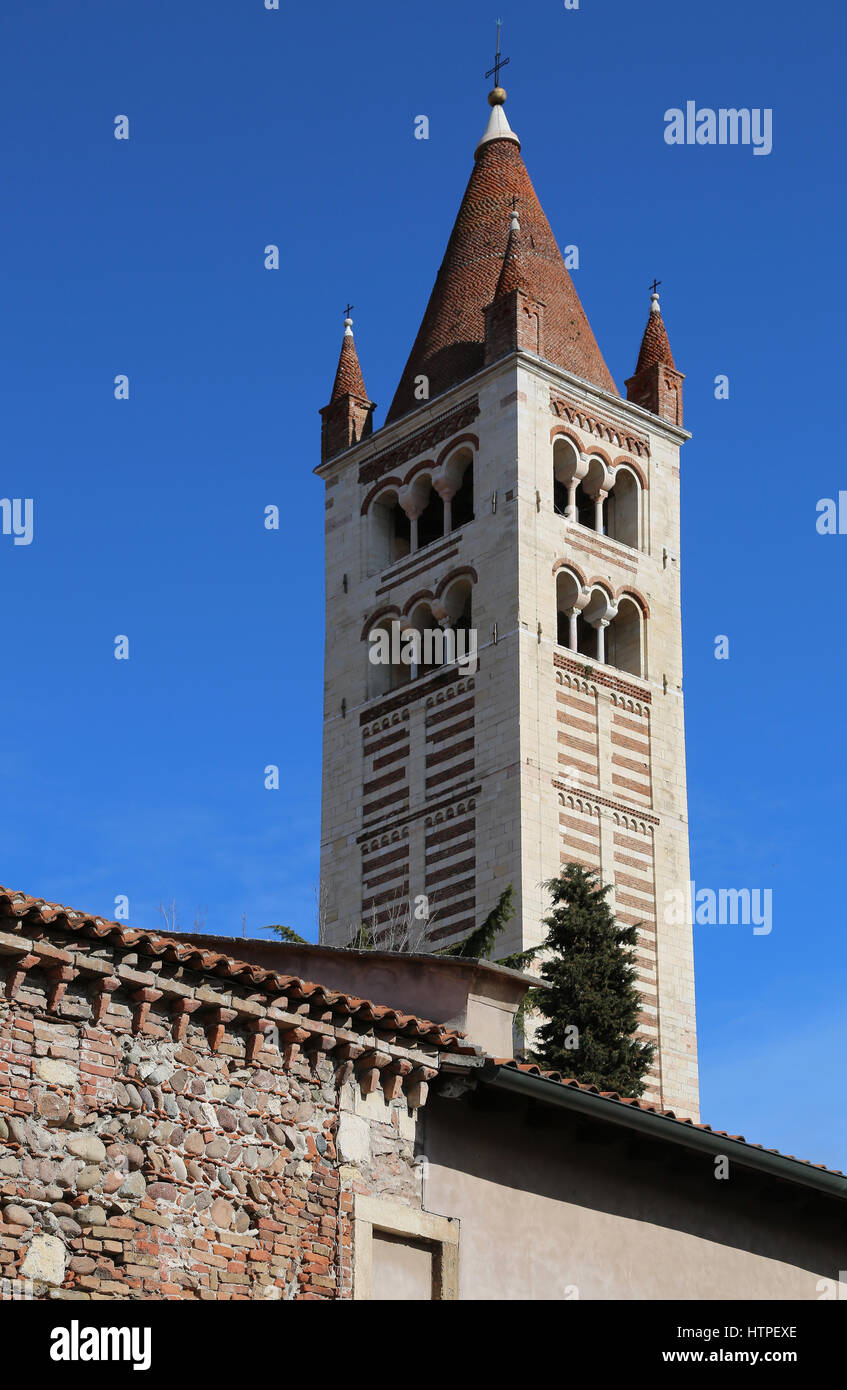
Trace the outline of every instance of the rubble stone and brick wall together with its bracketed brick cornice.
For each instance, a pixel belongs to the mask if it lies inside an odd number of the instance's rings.
[[[438,1047],[99,930],[0,931],[0,1297],[350,1297],[355,1193],[420,1207]]]

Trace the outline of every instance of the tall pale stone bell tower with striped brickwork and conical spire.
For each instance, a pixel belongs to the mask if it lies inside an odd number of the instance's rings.
[[[683,377],[656,285],[620,396],[488,100],[385,423],[349,316],[321,411],[321,938],[433,949],[510,884],[503,954],[535,945],[542,881],[584,863],[640,923],[645,1098],[697,1118],[691,927],[666,906],[690,877]]]

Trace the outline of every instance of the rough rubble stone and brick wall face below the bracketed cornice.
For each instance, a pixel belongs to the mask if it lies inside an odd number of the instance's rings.
[[[157,1002],[134,1031],[120,992],[93,1023],[79,980],[56,1017],[50,988],[0,972],[0,1298],[352,1297],[353,1193],[420,1205],[402,1090],[193,1016],[175,1041]]]

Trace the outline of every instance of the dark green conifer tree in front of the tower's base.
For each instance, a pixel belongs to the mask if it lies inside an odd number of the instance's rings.
[[[634,1033],[641,1012],[636,987],[637,927],[615,920],[597,874],[569,863],[545,884],[552,910],[541,984],[533,1006],[545,1022],[537,1033],[535,1059],[576,1081],[641,1095],[655,1047]]]

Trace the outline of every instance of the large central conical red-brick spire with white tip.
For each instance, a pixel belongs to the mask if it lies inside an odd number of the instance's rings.
[[[520,271],[520,288],[545,306],[542,356],[577,377],[619,395],[549,222],[520,156],[520,142],[495,88],[488,128],[409,361],[388,411],[396,420],[478,371],[485,360],[484,316],[501,277]],[[517,265],[505,265],[509,214],[520,215]],[[426,378],[427,396],[416,386]]]

